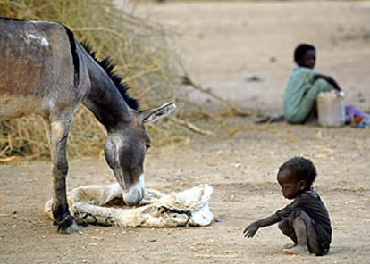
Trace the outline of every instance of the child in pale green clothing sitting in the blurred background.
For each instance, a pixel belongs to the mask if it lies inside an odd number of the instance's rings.
[[[284,117],[292,124],[303,124],[315,113],[316,96],[332,89],[341,90],[336,81],[314,69],[315,46],[301,44],[294,51],[298,67],[290,76],[284,95]]]

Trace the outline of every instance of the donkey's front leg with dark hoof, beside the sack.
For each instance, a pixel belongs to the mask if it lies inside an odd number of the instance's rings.
[[[67,138],[71,127],[71,117],[67,120],[51,122],[51,156],[53,176],[53,216],[61,233],[79,232],[76,220],[71,216],[68,209],[67,191],[65,178],[68,173],[68,161],[66,156]]]

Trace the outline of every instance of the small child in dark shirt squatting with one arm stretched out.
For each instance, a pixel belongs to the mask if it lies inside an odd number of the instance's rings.
[[[332,227],[324,202],[311,187],[315,177],[312,161],[295,157],[283,163],[277,180],[284,197],[293,201],[273,215],[248,225],[244,236],[253,237],[258,228],[279,222],[282,233],[293,241],[285,246],[284,252],[326,254],[332,241]]]

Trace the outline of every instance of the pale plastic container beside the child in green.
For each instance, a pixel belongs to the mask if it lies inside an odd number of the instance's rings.
[[[321,127],[335,128],[345,124],[343,92],[332,90],[317,95],[318,123]]]

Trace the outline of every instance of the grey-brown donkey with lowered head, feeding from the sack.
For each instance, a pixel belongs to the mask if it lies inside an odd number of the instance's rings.
[[[144,159],[150,146],[144,123],[170,114],[174,103],[139,111],[139,103],[113,72],[63,24],[0,18],[0,120],[39,114],[48,128],[53,176],[53,216],[61,233],[79,232],[68,208],[67,138],[80,104],[107,131],[105,159],[127,205],[144,195]]]

